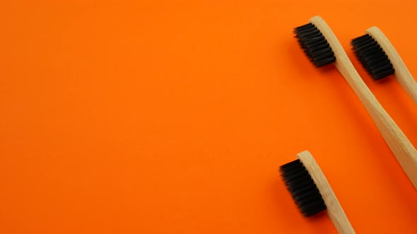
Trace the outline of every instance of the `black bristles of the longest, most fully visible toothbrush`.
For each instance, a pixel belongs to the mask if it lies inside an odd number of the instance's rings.
[[[301,49],[315,67],[319,68],[336,61],[329,42],[312,23],[295,27],[294,34]]]

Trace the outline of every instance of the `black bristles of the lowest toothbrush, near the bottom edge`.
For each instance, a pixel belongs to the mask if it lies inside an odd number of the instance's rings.
[[[327,209],[319,189],[300,159],[284,164],[279,171],[303,216],[313,216]]]

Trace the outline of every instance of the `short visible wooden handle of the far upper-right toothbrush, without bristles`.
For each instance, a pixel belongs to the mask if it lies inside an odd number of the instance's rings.
[[[407,69],[404,61],[402,61],[397,50],[392,46],[391,42],[385,37],[384,33],[377,27],[370,27],[366,30],[373,39],[375,39],[381,48],[387,54],[389,61],[394,66],[394,76],[397,78],[399,84],[406,90],[407,94],[413,99],[414,104],[417,104],[417,83],[413,76]]]

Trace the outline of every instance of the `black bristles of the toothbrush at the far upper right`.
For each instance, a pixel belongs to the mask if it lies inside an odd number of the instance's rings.
[[[380,80],[394,74],[394,67],[387,54],[370,35],[352,39],[351,45],[356,57],[374,80]]]

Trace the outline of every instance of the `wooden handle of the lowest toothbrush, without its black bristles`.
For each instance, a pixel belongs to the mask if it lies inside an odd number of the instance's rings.
[[[297,157],[315,181],[315,184],[324,199],[324,203],[326,204],[327,214],[329,215],[329,218],[334,224],[336,230],[342,234],[355,233],[351,222],[348,220],[348,217],[343,211],[339,200],[331,189],[326,176],[324,176],[322,169],[320,169],[312,154],[306,150],[297,154]]]

